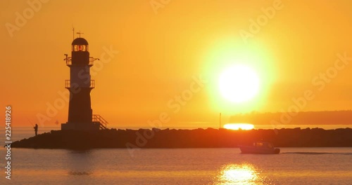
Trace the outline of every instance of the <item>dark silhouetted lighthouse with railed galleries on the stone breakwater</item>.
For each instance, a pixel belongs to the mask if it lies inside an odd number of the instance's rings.
[[[89,57],[88,41],[78,37],[72,42],[71,57],[65,54],[64,60],[70,67],[70,80],[65,81],[65,88],[70,91],[70,100],[68,122],[61,124],[61,130],[106,129],[107,122],[101,116],[93,114],[90,97],[92,89],[95,88],[95,81],[90,76],[90,67],[99,58]]]

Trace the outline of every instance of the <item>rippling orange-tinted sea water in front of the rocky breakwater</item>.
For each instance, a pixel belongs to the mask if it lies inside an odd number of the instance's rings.
[[[33,135],[18,128],[11,139]],[[0,184],[352,184],[351,147],[281,148],[276,155],[238,148],[11,149],[11,179],[6,152],[1,147]]]

